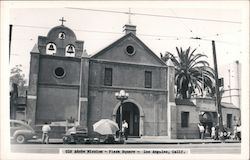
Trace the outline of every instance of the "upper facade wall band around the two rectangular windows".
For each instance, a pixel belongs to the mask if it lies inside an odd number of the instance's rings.
[[[145,71],[152,71],[152,89],[166,89],[166,68],[146,65],[90,61],[89,84],[104,85],[105,68],[112,68],[112,86],[144,89]]]

